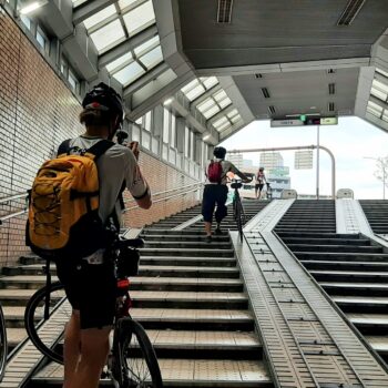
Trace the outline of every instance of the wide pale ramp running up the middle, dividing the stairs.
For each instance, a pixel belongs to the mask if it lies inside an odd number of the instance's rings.
[[[272,203],[257,226],[251,222],[245,232],[246,242],[252,247],[251,262],[254,258],[256,263],[256,283],[263,282],[266,287],[263,284],[254,285],[248,278],[249,273],[254,272],[253,265],[245,265],[249,256],[247,247],[243,246],[239,249],[239,254],[243,254],[239,257],[243,274],[248,280],[248,294],[256,288],[257,299],[257,288],[265,292],[259,297],[262,310],[255,308],[255,299],[252,299],[252,304],[277,386],[388,387],[388,374],[385,368],[272,233],[290,204],[292,202],[285,201]],[[237,244],[236,241],[234,243]],[[257,246],[261,246],[261,249],[257,249]],[[264,255],[266,259],[263,259]],[[263,298],[265,300],[262,300]],[[267,308],[265,314],[264,307]],[[275,318],[276,321],[269,323],[268,317]],[[270,325],[276,328],[273,333],[277,331],[279,335],[279,326],[285,327],[288,341],[279,341],[274,334],[268,333]],[[289,357],[290,354],[293,357]],[[280,359],[283,363],[279,363]],[[290,372],[290,366],[298,368],[298,371],[305,370],[304,376],[308,376],[308,379],[302,380],[299,374]]]

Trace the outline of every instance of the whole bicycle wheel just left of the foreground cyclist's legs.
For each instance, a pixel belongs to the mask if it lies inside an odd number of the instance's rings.
[[[34,293],[25,307],[24,325],[31,341],[44,356],[59,364],[63,364],[61,341],[71,310],[63,285],[59,282],[52,283],[49,289],[44,286]],[[44,330],[44,325],[52,327],[43,335],[39,330]]]

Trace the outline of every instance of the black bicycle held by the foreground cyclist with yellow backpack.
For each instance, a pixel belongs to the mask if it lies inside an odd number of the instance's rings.
[[[143,246],[141,238],[119,239],[114,249],[133,251],[136,255],[135,267],[139,263],[139,251]],[[114,251],[116,252],[116,251]],[[162,376],[155,350],[141,324],[133,320],[129,314],[131,297],[129,294],[129,280],[126,275],[133,275],[134,268],[129,268],[129,261],[123,261],[120,255],[114,257],[118,287],[121,292],[116,304],[116,318],[113,325],[113,340],[108,357],[106,367],[102,377],[111,378],[114,386],[119,387],[147,387],[162,388]],[[136,268],[137,269],[137,268]],[[25,307],[24,324],[27,333],[35,347],[52,361],[63,364],[64,324],[69,320],[71,306],[65,298],[64,288],[60,282],[51,283],[50,263],[43,267],[47,274],[47,285],[39,289]],[[132,272],[131,274],[129,274]],[[50,320],[51,327],[50,328]],[[48,325],[48,331],[58,330],[59,336],[40,335],[39,329]]]

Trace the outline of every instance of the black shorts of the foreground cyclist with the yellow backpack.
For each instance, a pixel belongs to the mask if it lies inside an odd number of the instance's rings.
[[[73,309],[80,312],[81,329],[113,325],[116,278],[113,263],[57,263],[57,274]]]

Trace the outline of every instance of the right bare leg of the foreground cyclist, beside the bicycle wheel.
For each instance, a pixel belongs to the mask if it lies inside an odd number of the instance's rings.
[[[81,330],[81,359],[69,388],[98,388],[109,353],[111,328]]]

